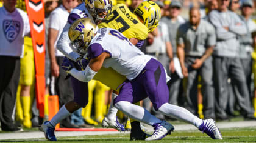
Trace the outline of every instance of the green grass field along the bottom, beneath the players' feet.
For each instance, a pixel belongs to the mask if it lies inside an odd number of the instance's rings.
[[[115,135],[69,136],[57,137],[57,142],[256,142],[256,127],[229,128],[221,130],[223,140],[213,140],[200,131],[174,131],[160,141],[130,141],[129,133]],[[0,134],[1,135],[1,134]],[[33,136],[33,133],[31,133]],[[0,142],[48,142],[44,138],[5,140]]]

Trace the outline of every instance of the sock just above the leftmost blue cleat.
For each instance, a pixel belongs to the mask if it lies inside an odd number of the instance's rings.
[[[69,113],[69,111],[66,110],[65,105],[63,105],[62,108],[60,108],[60,110],[58,111],[58,113],[49,122],[55,127],[60,121],[62,121],[69,115],[71,115],[71,113]]]

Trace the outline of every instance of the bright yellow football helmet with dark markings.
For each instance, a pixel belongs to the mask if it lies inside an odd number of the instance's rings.
[[[160,7],[153,1],[142,2],[134,13],[143,20],[143,24],[148,27],[148,32],[155,30],[161,18]]]

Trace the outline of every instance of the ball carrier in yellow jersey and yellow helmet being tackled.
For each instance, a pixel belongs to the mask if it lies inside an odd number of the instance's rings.
[[[105,10],[102,8],[105,7],[106,4],[104,0],[95,0],[93,4],[93,13],[96,20],[100,21],[98,23],[98,28],[108,27],[116,29],[123,33],[123,35],[126,36],[126,38],[128,38],[132,44],[136,45],[137,47],[142,45],[141,41],[147,38],[148,32],[152,32],[157,27],[158,21],[160,20],[160,8],[157,4],[155,4],[155,2],[152,1],[142,2],[135,9],[135,14],[130,12],[129,8],[124,4],[114,6],[110,13],[108,9]],[[106,77],[105,75],[108,76]],[[116,78],[116,75],[118,75],[119,78]],[[112,80],[112,76],[115,77],[115,80]],[[126,80],[126,77],[116,73],[116,71],[114,71],[112,68],[102,67],[94,79],[101,81],[115,91],[119,91],[119,85]],[[112,98],[114,99],[115,96],[112,96]],[[138,102],[137,105],[140,105],[140,102]],[[111,111],[108,113],[110,112]],[[104,118],[102,121],[102,127],[109,126],[108,116],[111,115],[108,114]],[[141,130],[140,122],[132,120],[131,125],[132,131],[130,134],[130,139],[144,140],[146,138],[146,134]]]

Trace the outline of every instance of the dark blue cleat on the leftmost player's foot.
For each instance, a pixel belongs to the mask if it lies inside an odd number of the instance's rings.
[[[57,141],[56,136],[54,134],[55,128],[49,121],[43,122],[41,125],[41,130],[44,132],[45,138],[49,141]]]

